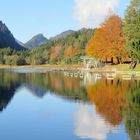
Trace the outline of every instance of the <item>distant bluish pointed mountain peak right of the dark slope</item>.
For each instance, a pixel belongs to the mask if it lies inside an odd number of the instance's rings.
[[[43,34],[37,34],[32,39],[24,44],[25,48],[32,49],[37,48],[40,45],[46,44],[48,39],[43,36]]]

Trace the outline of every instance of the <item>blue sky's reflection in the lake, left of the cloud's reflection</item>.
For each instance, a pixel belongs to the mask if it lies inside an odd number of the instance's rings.
[[[78,140],[73,135],[73,112],[77,107],[49,93],[36,98],[28,88],[20,87],[0,113],[0,139]]]

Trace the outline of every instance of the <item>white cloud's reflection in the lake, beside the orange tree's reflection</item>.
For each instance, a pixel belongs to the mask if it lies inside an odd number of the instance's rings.
[[[116,135],[121,133],[119,132],[122,131],[121,127],[118,126],[117,128],[107,123],[104,118],[96,113],[94,106],[82,105],[79,111],[75,113],[75,135],[81,138],[106,140],[110,137],[114,140]],[[125,135],[122,137],[126,139]]]

